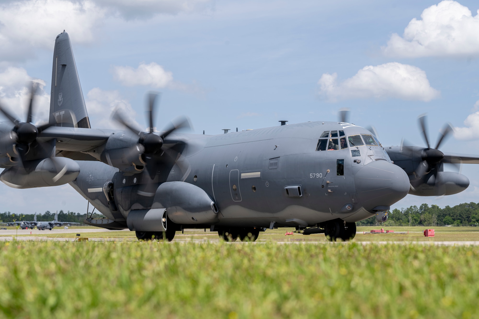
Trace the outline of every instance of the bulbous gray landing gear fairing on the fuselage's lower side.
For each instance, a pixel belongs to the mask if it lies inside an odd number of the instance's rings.
[[[176,224],[215,224],[218,207],[206,192],[187,182],[164,182],[155,194],[151,208],[166,208]]]

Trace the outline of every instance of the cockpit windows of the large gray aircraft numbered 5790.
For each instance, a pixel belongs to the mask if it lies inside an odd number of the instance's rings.
[[[351,148],[352,157],[360,157],[361,152],[359,146],[380,146],[381,144],[376,139],[375,136],[370,134],[356,134],[348,136],[344,131],[324,131],[323,134],[319,137],[318,144],[316,146],[317,151],[331,151],[331,150],[341,150]]]

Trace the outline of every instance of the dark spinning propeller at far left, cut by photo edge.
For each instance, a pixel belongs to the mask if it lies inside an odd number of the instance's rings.
[[[10,134],[6,134],[0,139],[0,144],[3,148],[9,148],[11,146],[14,153],[19,156],[21,162],[25,160],[26,154],[32,147],[39,147],[40,150],[43,151],[43,155],[49,156],[44,147],[44,144],[46,143],[38,141],[37,137],[43,130],[54,124],[45,124],[40,126],[32,124],[33,105],[37,88],[38,83],[32,82],[26,122],[19,121],[10,113],[10,111],[0,104],[0,112],[5,115],[14,125]],[[14,156],[15,154],[8,155],[12,158],[12,161],[16,158],[16,156]]]

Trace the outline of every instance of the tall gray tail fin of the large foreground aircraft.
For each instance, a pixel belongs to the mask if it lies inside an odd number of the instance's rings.
[[[50,124],[91,128],[68,33],[55,39],[53,50]]]

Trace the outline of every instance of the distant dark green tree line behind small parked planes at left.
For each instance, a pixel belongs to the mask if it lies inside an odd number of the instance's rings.
[[[88,215],[90,217],[90,215]],[[10,212],[0,213],[0,223],[11,223],[15,221],[33,221],[35,214],[12,214]],[[93,218],[104,217],[102,214],[93,213]],[[58,212],[58,221],[60,222],[69,222],[69,223],[83,223],[83,220],[86,218],[86,214],[80,214],[75,212],[64,212],[60,210]],[[37,214],[37,221],[52,221],[55,219],[55,213],[46,211],[43,214]]]

